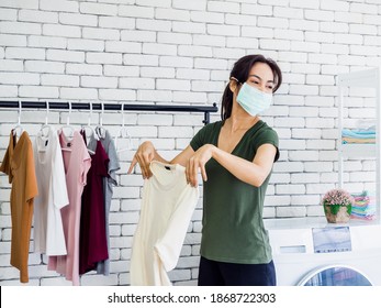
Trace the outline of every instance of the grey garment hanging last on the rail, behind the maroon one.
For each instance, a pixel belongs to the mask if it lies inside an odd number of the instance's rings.
[[[108,177],[103,177],[103,195],[104,195],[104,215],[105,215],[105,237],[108,243],[108,254],[109,258],[101,261],[97,265],[97,273],[103,274],[105,276],[110,275],[110,228],[109,228],[109,216],[110,216],[110,207],[113,195],[113,187],[117,185],[116,182],[116,172],[121,168],[116,147],[113,139],[111,138],[110,132],[107,130],[104,138],[100,139],[105,153],[109,156],[109,169]]]

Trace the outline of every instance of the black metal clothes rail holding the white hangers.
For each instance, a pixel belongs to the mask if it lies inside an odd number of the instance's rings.
[[[21,105],[21,106],[20,106]],[[13,109],[67,109],[67,110],[128,110],[128,111],[169,111],[169,112],[203,112],[204,124],[210,122],[210,113],[216,112],[216,103],[213,106],[182,106],[182,105],[122,105],[122,103],[100,103],[100,102],[61,102],[61,101],[16,101],[0,100],[0,108]]]

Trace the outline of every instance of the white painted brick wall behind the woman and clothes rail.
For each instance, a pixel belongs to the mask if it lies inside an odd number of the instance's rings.
[[[265,217],[322,216],[321,195],[337,183],[335,75],[381,64],[379,0],[1,0],[0,99],[211,105],[220,102],[234,62],[264,53],[276,59],[284,82],[264,119],[280,135],[281,158],[268,189]],[[349,125],[372,112],[372,95],[351,92]],[[86,112],[71,122],[87,123]],[[65,123],[67,112],[49,120]],[[0,160],[18,112],[0,110]],[[34,134],[45,110],[22,117]],[[202,114],[126,112],[135,146],[153,140],[166,157],[189,144]],[[212,121],[218,114],[212,114]],[[93,123],[99,120],[94,112]],[[121,114],[104,123],[119,130]],[[82,285],[126,285],[131,243],[143,179],[126,175],[133,152],[123,153],[111,216],[111,275],[87,274]],[[345,165],[348,189],[372,187],[374,161]],[[363,183],[357,183],[362,178]],[[19,285],[9,265],[10,186],[0,175],[0,285]],[[177,285],[198,275],[200,205],[178,267]],[[33,244],[33,241],[32,241]],[[30,254],[30,285],[69,285]]]

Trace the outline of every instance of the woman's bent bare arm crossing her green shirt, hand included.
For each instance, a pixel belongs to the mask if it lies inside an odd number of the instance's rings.
[[[253,186],[259,187],[269,175],[276,154],[277,148],[272,144],[266,143],[258,147],[257,154],[253,162],[248,162],[212,144],[205,144],[189,158],[186,170],[187,180],[192,186],[197,186],[199,169],[201,170],[203,180],[208,180],[205,164],[210,158],[213,157],[236,178]]]

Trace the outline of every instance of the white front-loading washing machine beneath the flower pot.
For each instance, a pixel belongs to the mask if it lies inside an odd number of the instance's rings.
[[[279,286],[381,286],[381,224],[267,219]]]

